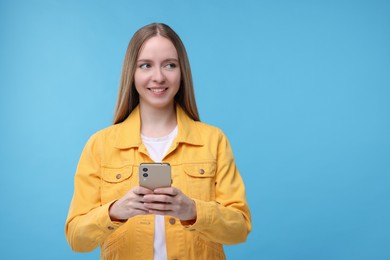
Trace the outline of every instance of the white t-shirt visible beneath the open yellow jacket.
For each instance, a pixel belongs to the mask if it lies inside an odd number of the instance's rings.
[[[173,131],[163,137],[150,138],[141,135],[142,142],[145,145],[150,158],[155,162],[161,162],[171,147],[173,140],[177,136],[177,126]],[[165,242],[165,223],[164,216],[155,215],[154,221],[154,260],[167,259],[167,246]]]

